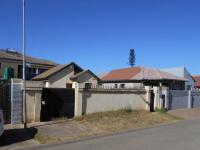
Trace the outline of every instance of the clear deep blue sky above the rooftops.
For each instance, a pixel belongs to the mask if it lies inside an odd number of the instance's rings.
[[[26,0],[26,53],[94,73],[185,66],[200,74],[199,0]],[[0,48],[22,50],[22,0],[0,0]]]

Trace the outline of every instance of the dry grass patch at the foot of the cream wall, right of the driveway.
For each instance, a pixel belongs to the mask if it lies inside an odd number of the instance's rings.
[[[164,111],[147,112],[145,110],[122,109],[118,111],[99,112],[75,118],[105,132],[148,127],[177,120]]]

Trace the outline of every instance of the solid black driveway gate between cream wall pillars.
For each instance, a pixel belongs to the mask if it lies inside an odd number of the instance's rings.
[[[74,117],[74,89],[44,88],[41,101],[41,121]]]

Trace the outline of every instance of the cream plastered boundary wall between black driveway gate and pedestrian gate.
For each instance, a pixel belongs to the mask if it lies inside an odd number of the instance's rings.
[[[79,90],[76,115],[118,109],[146,109],[145,90]]]

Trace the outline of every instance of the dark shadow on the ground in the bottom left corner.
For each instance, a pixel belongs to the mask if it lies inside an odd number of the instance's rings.
[[[0,138],[0,146],[6,146],[33,139],[36,133],[36,128],[5,130],[3,136]]]

